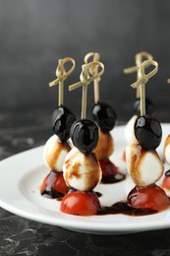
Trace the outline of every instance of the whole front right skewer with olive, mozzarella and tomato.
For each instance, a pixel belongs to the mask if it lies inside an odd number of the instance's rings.
[[[144,69],[153,66],[148,74]],[[139,65],[140,78],[132,85],[141,89],[141,116],[135,123],[135,136],[139,144],[127,146],[127,169],[135,182],[135,188],[128,195],[128,205],[137,209],[147,209],[153,212],[168,207],[169,199],[163,189],[155,184],[163,174],[164,166],[156,148],[162,138],[160,123],[145,114],[145,83],[157,73],[158,64],[153,60],[146,60]]]

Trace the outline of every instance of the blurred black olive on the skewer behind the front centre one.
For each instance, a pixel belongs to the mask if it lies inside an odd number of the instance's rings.
[[[92,116],[103,133],[108,133],[116,125],[117,115],[113,108],[107,103],[98,102],[94,104]]]

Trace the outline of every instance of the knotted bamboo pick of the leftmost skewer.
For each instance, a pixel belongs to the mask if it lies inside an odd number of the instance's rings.
[[[64,64],[67,62],[72,63],[72,67],[66,71]],[[58,66],[56,69],[56,76],[57,79],[49,83],[49,87],[53,87],[56,85],[59,85],[59,93],[58,93],[58,105],[63,105],[64,102],[64,81],[72,74],[72,72],[75,70],[75,60],[73,58],[64,58],[58,60]]]

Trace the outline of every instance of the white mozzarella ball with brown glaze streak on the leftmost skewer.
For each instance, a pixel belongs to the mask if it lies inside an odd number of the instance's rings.
[[[51,136],[43,151],[45,164],[53,171],[63,171],[64,160],[70,150],[68,143],[62,143],[57,135]]]

